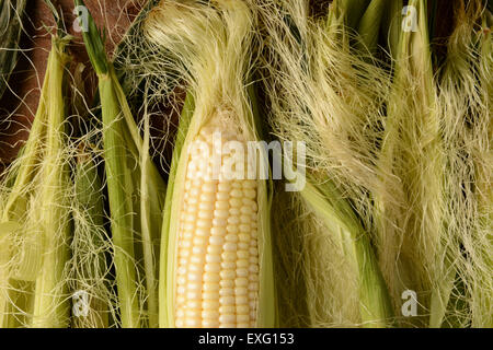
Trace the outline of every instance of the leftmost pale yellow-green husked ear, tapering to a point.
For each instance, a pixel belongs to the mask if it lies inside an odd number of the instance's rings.
[[[62,94],[65,47],[69,38],[53,37],[39,107],[21,158],[12,165],[15,180],[7,189],[3,221],[10,234],[3,257],[2,325],[65,327],[69,323],[65,265],[68,260],[66,114]],[[8,170],[10,172],[11,170]],[[7,178],[9,180],[10,174]]]

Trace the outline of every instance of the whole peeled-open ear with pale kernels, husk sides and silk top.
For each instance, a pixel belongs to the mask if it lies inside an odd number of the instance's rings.
[[[161,327],[275,325],[268,185],[246,177],[265,154],[238,159],[215,144],[245,150],[260,139],[244,89],[254,24],[246,3],[162,1],[145,24],[190,70],[164,213]]]

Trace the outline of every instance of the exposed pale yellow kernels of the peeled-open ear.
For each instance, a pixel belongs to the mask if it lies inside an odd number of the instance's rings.
[[[234,136],[231,135],[234,139]],[[211,148],[211,130],[200,141]],[[213,179],[213,159],[186,154],[176,223],[176,327],[254,327],[259,293],[259,205],[255,179]],[[228,164],[230,158],[223,156]],[[221,171],[225,167],[221,168]],[[245,177],[244,177],[245,178]],[[262,228],[261,228],[262,229]]]

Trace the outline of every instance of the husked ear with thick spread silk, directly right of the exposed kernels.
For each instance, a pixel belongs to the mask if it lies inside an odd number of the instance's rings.
[[[294,2],[285,9],[293,11],[288,13],[297,22],[300,39],[286,33],[283,19],[275,19],[272,12],[265,15],[265,21],[274,23],[267,34],[273,39],[265,62],[272,79],[266,79],[265,88],[272,103],[272,127],[280,140],[302,140],[307,148],[307,164],[298,170],[306,167],[308,182],[298,196],[300,208],[295,209],[299,217],[294,220],[299,223],[293,225],[311,230],[300,233],[302,246],[294,254],[296,259],[283,264],[286,270],[296,265],[303,273],[306,292],[299,298],[307,299],[310,326],[386,327],[392,324],[393,312],[372,252],[371,219],[365,217],[367,188],[377,183],[375,177],[357,177],[376,174],[375,155],[360,145],[377,151],[378,136],[372,132],[383,98],[372,93],[378,90],[385,95],[387,75],[352,54],[355,35],[337,8],[344,3],[333,2],[328,25],[320,26],[295,12]],[[300,62],[300,57],[306,60]],[[364,131],[368,129],[371,131]],[[282,231],[277,240],[283,242],[285,234],[296,232]],[[337,255],[331,259],[326,252],[336,248]],[[289,257],[283,252],[279,255],[279,259]],[[342,266],[347,276],[334,271],[335,266]],[[352,293],[337,291],[348,285]],[[331,301],[328,295],[341,300]],[[290,307],[287,303],[284,307]]]

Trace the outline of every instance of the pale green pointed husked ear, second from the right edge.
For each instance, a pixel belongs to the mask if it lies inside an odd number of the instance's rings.
[[[415,25],[401,31],[399,49],[392,52],[393,91],[379,160],[382,186],[391,189],[392,199],[375,198],[378,255],[392,299],[398,301],[405,290],[417,292],[439,324],[454,280],[444,245],[445,159],[426,2],[410,1],[409,8],[415,10]]]

